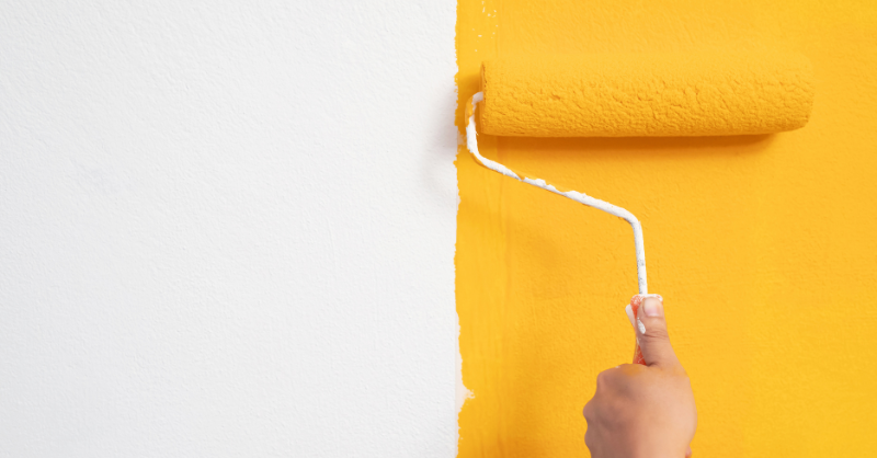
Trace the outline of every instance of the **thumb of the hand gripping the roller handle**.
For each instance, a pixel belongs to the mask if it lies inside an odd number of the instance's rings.
[[[633,302],[637,319],[634,331],[646,365],[680,366],[673,346],[670,345],[670,334],[667,332],[663,299],[660,296],[649,295],[641,298],[639,307],[636,305],[636,298]]]

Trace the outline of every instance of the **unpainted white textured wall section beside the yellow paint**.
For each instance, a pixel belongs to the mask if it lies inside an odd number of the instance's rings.
[[[0,456],[452,457],[455,2],[4,1]]]

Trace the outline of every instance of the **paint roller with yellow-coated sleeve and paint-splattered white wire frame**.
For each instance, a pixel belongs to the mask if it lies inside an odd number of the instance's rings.
[[[481,91],[466,105],[466,141],[481,165],[617,216],[634,229],[639,294],[649,295],[642,227],[628,210],[561,190],[485,158],[482,134],[527,137],[759,135],[804,127],[813,104],[809,60],[794,53],[517,56],[481,65]],[[660,296],[658,296],[660,298]],[[639,346],[634,363],[645,364]]]

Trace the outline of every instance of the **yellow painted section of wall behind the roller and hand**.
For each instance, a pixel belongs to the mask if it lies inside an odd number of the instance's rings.
[[[479,146],[642,220],[650,290],[697,399],[695,456],[877,456],[877,3],[459,0],[457,125],[485,59],[729,48],[807,56],[809,124]],[[581,408],[633,347],[629,227],[464,148],[457,310],[475,397],[459,456],[586,456]]]

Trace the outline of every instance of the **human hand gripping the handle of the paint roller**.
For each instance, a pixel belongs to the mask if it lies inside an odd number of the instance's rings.
[[[596,393],[584,405],[584,443],[593,458],[688,457],[697,410],[688,376],[670,345],[661,299],[646,297],[637,314],[630,324],[646,365],[600,373]]]

